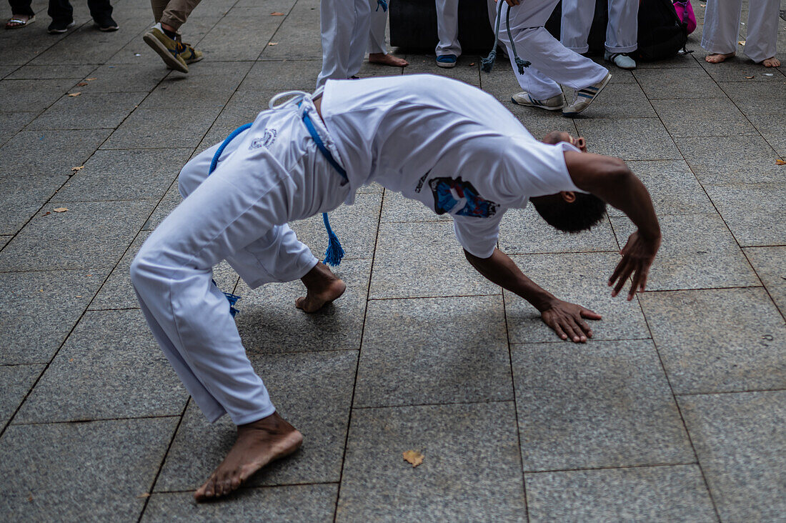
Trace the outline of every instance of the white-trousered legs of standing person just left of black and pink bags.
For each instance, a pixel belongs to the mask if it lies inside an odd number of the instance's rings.
[[[638,4],[639,0],[608,0],[604,58],[619,68],[636,68],[629,53],[638,48]],[[595,0],[562,0],[562,45],[576,53],[586,53],[594,16]]]

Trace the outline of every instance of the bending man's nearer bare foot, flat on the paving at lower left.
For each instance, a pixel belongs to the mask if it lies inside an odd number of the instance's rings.
[[[303,444],[303,434],[277,412],[237,427],[237,441],[221,465],[194,492],[196,501],[219,498],[240,488],[253,473],[268,463],[290,455]]]

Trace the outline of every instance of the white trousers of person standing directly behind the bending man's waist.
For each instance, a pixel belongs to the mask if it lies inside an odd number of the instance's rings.
[[[326,79],[347,79],[360,71],[369,42],[370,14],[369,0],[321,0],[322,70],[317,87]]]

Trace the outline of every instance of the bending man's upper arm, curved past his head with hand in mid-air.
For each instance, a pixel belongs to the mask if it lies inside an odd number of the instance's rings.
[[[620,252],[623,259],[608,278],[608,285],[614,285],[612,296],[616,296],[633,275],[628,293],[628,300],[633,300],[637,290],[645,289],[649,267],[660,247],[660,226],[649,193],[619,158],[566,151],[565,164],[575,186],[618,208],[638,227]]]

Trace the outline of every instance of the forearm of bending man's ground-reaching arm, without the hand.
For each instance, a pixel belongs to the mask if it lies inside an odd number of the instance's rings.
[[[490,282],[521,296],[538,311],[542,312],[550,308],[556,300],[553,294],[527,278],[510,256],[499,249],[494,249],[488,258],[479,258],[467,251],[464,255],[472,267],[475,267]]]

